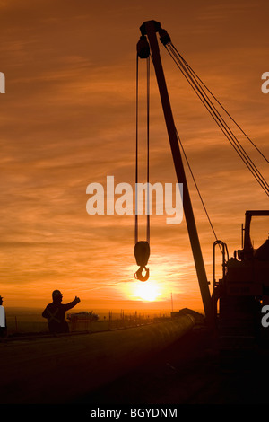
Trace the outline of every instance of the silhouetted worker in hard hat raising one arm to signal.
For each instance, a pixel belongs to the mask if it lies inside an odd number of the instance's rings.
[[[65,333],[69,332],[69,327],[67,321],[65,321],[65,312],[69,309],[74,308],[74,306],[81,302],[80,298],[75,296],[74,301],[70,303],[62,303],[63,295],[59,290],[54,290],[52,292],[52,303],[48,303],[45,311],[43,311],[42,316],[48,319],[48,330],[49,332],[55,333]]]

